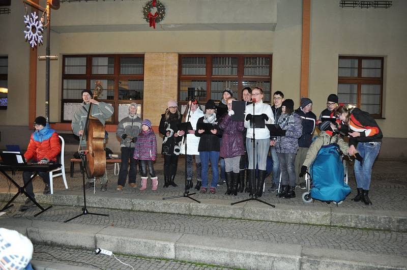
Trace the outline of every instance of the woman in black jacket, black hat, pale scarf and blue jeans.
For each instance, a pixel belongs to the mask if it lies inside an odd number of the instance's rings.
[[[205,105],[205,114],[198,119],[197,124],[199,123],[213,124],[213,129],[211,129],[210,134],[204,133],[205,130],[203,129],[195,131],[195,136],[200,137],[198,145],[198,152],[202,166],[202,187],[200,188],[200,193],[206,193],[208,190],[208,166],[209,160],[211,160],[212,181],[210,192],[215,194],[219,178],[218,160],[222,132],[217,126],[216,105],[213,100],[208,100]]]

